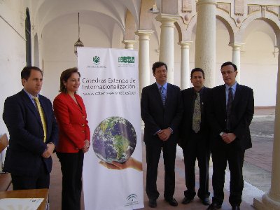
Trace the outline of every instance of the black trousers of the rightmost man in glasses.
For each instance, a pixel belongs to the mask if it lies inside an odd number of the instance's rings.
[[[235,139],[238,141],[238,139]],[[211,151],[213,160],[213,177],[212,185],[214,190],[213,202],[223,204],[224,193],[223,186],[225,183],[225,169],[230,169],[230,198],[232,206],[241,204],[242,190],[244,187],[242,167],[244,162],[245,151],[241,150],[235,141],[231,144],[223,144],[222,148]]]

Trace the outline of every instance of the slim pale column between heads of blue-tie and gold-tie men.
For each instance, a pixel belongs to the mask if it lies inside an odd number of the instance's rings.
[[[190,45],[193,41],[181,41],[181,90],[190,87]]]

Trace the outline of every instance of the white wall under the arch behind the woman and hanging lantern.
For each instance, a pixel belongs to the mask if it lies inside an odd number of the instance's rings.
[[[51,22],[43,30],[42,93],[51,101],[59,93],[59,78],[62,71],[77,66],[77,57],[73,50],[74,43],[78,40],[78,26],[71,23],[73,18],[76,18],[76,15],[65,15]],[[111,48],[111,41],[100,29],[80,25],[80,31],[80,41],[83,41],[85,47]]]

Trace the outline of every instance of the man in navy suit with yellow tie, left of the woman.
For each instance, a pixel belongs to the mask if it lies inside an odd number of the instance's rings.
[[[57,123],[50,100],[38,94],[43,83],[41,69],[27,66],[21,78],[23,90],[8,97],[4,104],[3,120],[10,145],[3,171],[10,172],[13,190],[49,188]]]

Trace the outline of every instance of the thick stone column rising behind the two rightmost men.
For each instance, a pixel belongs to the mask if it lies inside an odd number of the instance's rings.
[[[205,86],[214,87],[216,72],[216,0],[197,1],[195,67],[205,72]]]

